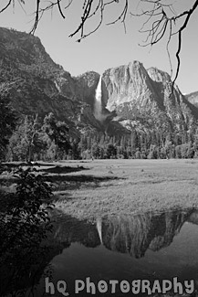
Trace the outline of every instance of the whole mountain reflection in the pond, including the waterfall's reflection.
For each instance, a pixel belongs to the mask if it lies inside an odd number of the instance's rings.
[[[98,217],[93,224],[62,216],[55,223],[52,240],[62,249],[68,248],[73,242],[88,248],[102,244],[106,249],[141,258],[147,249],[157,251],[169,246],[186,221],[197,224],[197,211],[188,209],[158,214]]]

